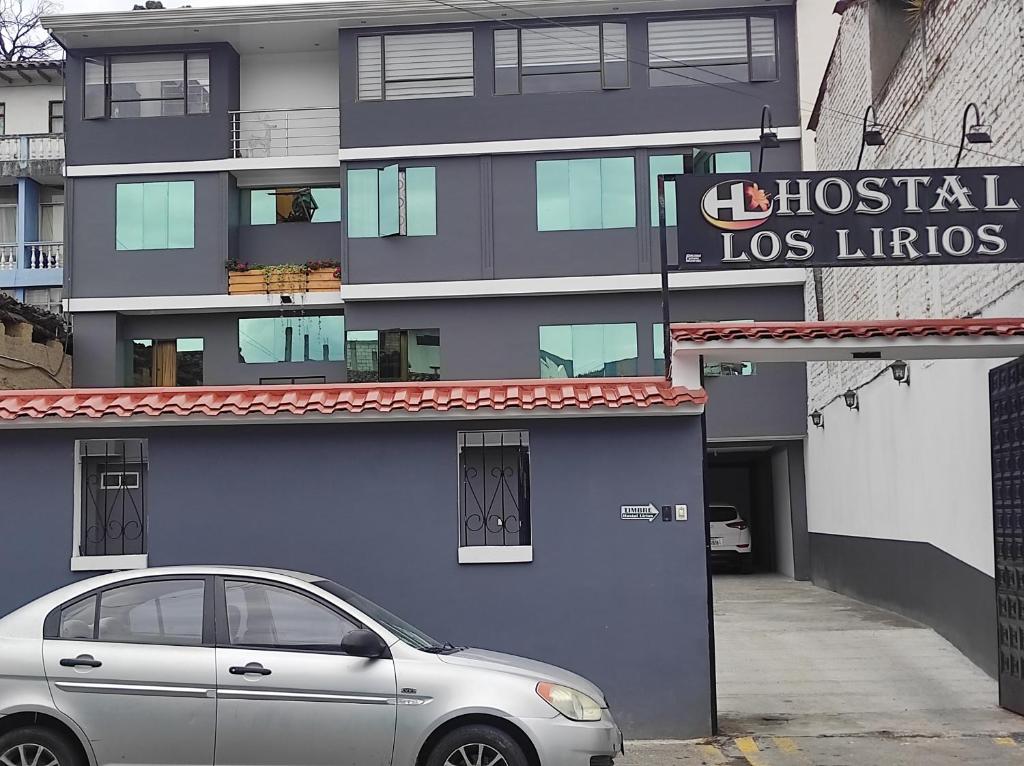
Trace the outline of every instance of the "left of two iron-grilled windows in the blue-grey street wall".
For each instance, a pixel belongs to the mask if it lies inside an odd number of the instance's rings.
[[[85,439],[76,451],[78,555],[146,553],[147,440]]]

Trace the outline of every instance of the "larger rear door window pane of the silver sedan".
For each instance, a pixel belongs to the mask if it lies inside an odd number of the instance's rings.
[[[202,644],[202,580],[158,580],[99,594],[100,641]]]

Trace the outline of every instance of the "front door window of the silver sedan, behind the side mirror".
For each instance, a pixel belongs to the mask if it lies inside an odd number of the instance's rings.
[[[236,646],[337,650],[358,627],[312,598],[265,583],[227,581],[224,600]]]

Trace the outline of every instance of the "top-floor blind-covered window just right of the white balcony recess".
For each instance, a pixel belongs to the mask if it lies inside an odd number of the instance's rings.
[[[473,33],[375,35],[356,42],[360,101],[473,95]]]

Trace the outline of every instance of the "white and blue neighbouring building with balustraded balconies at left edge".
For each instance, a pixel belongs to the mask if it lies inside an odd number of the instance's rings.
[[[61,310],[63,65],[0,61],[0,292]]]

